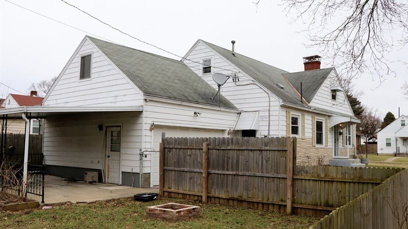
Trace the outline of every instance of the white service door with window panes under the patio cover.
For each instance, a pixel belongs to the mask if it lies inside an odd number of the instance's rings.
[[[107,127],[106,182],[119,184],[120,179],[120,126]]]

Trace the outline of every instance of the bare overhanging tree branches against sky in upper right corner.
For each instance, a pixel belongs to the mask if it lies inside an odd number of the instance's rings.
[[[282,0],[282,5],[288,15],[296,13],[293,21],[307,24],[302,31],[309,45],[325,53],[343,77],[369,72],[382,81],[395,75],[386,54],[408,43],[406,0]]]

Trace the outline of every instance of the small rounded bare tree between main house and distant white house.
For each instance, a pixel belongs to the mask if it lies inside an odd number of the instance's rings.
[[[381,118],[378,111],[373,108],[365,108],[361,117],[361,123],[358,125],[360,132],[365,137],[365,158],[367,158],[367,144],[368,139],[374,137],[381,127]]]

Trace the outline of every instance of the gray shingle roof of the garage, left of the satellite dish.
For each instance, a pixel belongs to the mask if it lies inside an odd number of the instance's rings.
[[[218,106],[218,99],[212,100],[217,90],[183,62],[95,37],[88,38],[144,94]],[[220,105],[237,109],[224,96],[221,96]]]

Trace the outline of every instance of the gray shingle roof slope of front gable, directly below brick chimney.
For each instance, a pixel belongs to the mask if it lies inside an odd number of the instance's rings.
[[[300,91],[300,82],[302,82],[303,97],[307,102],[310,102],[333,69],[334,67],[328,67],[317,70],[284,73],[284,75],[298,91]]]

